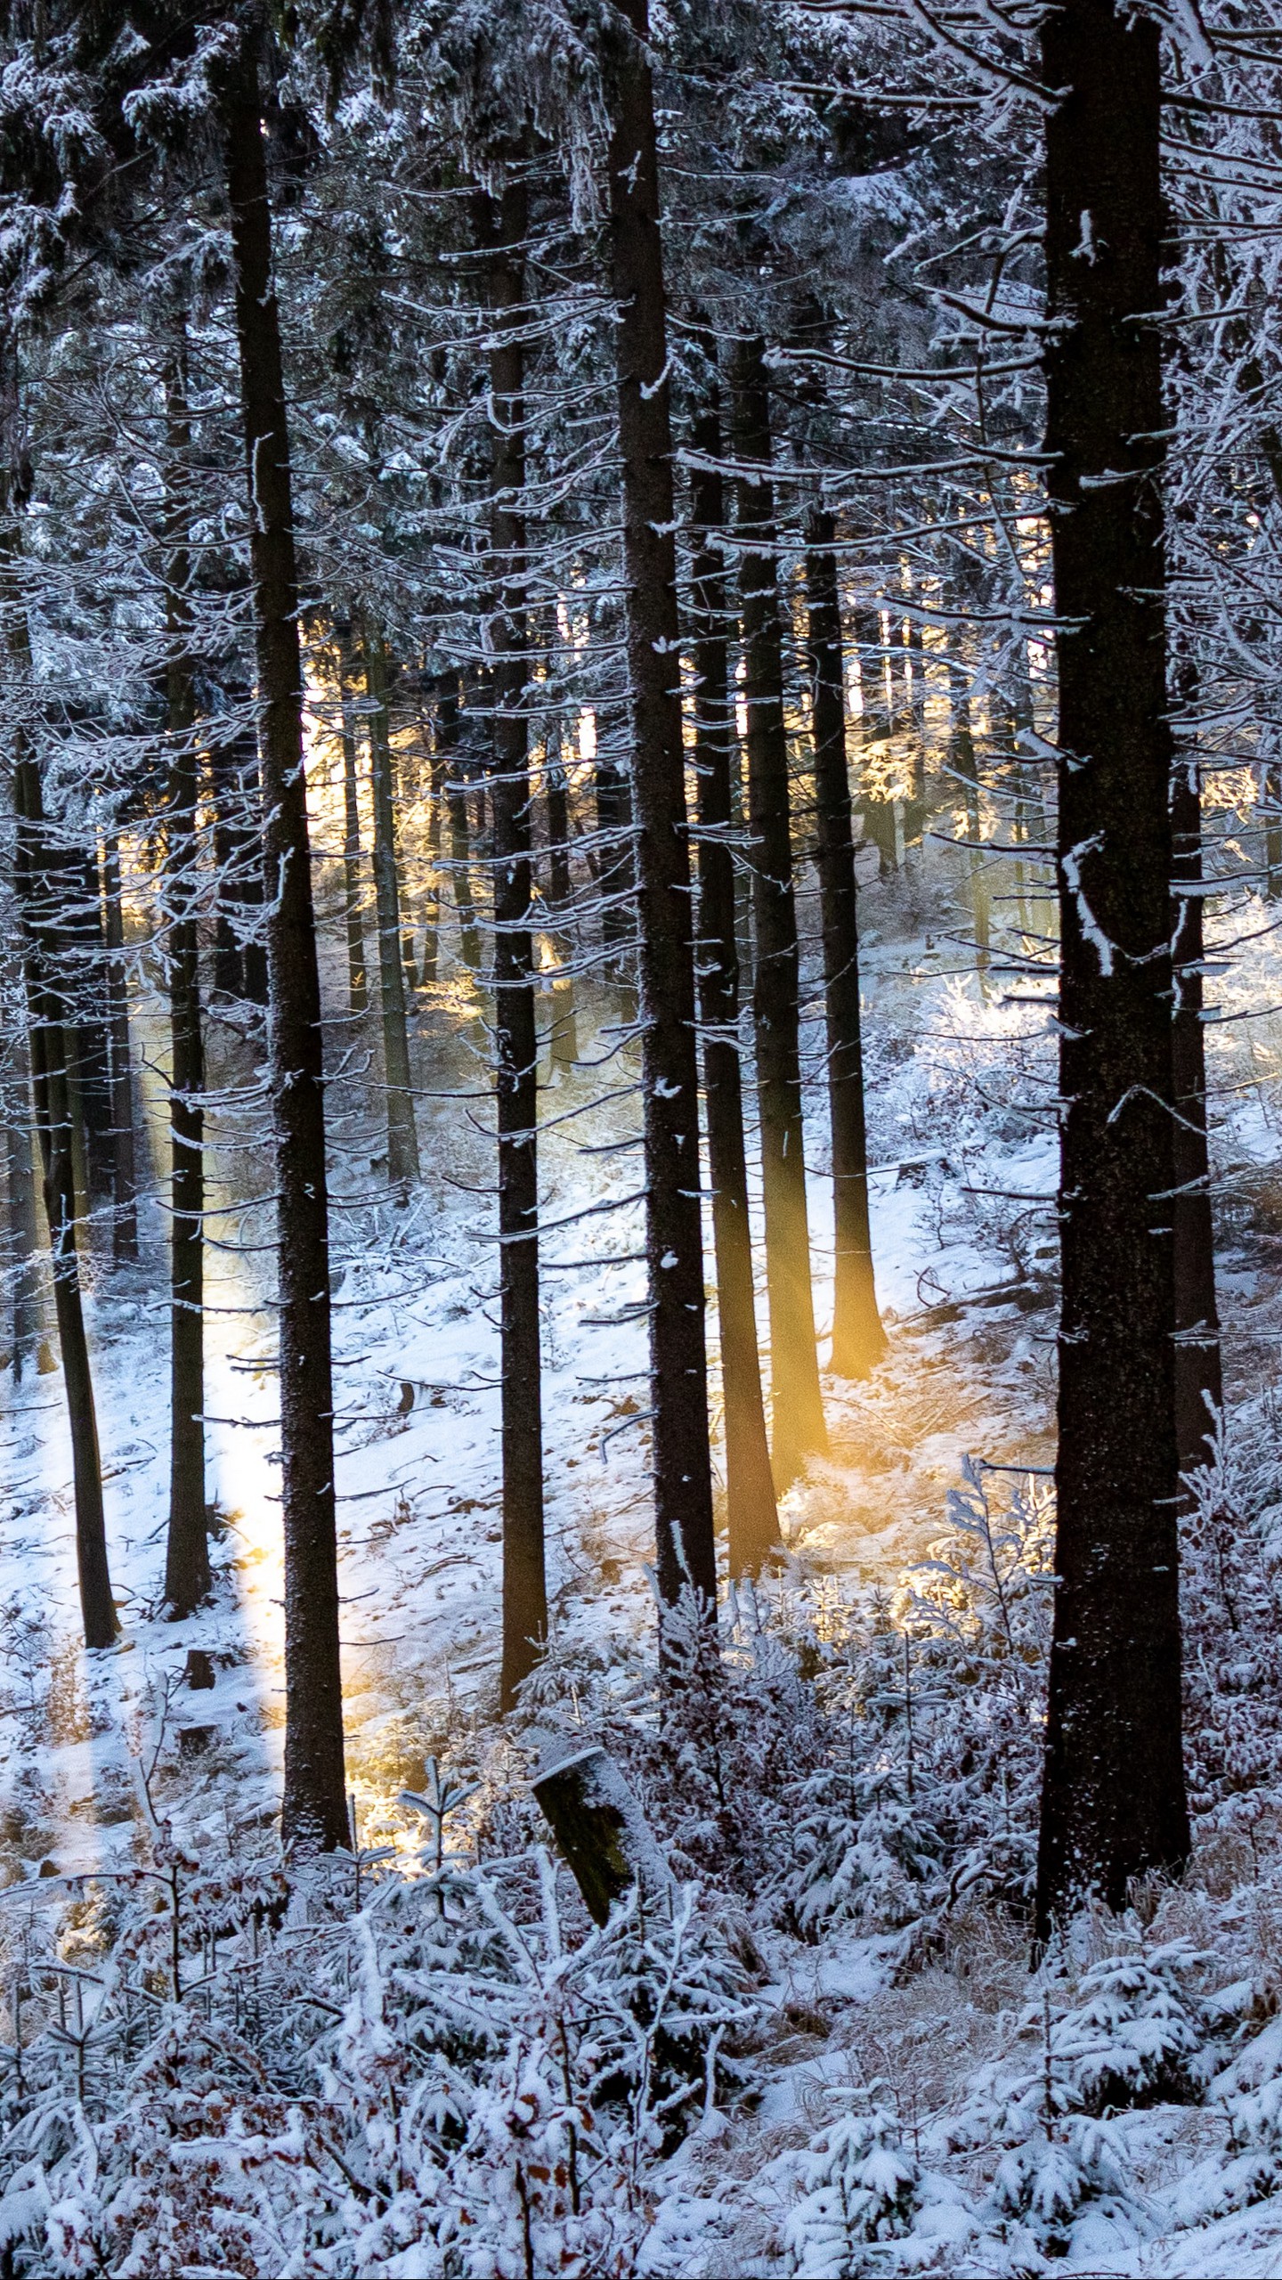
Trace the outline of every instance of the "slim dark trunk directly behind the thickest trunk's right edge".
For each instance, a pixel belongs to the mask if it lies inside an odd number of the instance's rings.
[[[1223,1407],[1216,1231],[1207,1151],[1207,1056],[1202,1049],[1202,800],[1198,762],[1170,780],[1175,944],[1175,1446],[1188,1473],[1207,1461],[1211,1411]],[[1193,889],[1184,891],[1182,889]]]

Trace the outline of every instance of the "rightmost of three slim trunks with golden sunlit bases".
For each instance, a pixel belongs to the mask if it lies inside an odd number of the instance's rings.
[[[819,910],[823,921],[823,992],[828,1015],[828,1115],[833,1124],[833,1373],[867,1377],[885,1354],[876,1304],[869,1227],[869,1156],[865,1124],[865,1049],[860,1024],[860,914],[851,771],[846,762],[846,691],[842,677],[842,602],[837,529],[812,518],[805,556],[810,673],[814,689],[814,807],[819,821]]]

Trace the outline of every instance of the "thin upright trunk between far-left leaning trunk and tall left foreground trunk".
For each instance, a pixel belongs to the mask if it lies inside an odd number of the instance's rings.
[[[169,424],[169,1541],[164,1598],[192,1614],[210,1591],[205,1516],[205,1053],[201,1040],[201,948],[196,935],[196,684],[192,673],[192,547],[187,349],[164,381]]]

